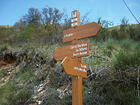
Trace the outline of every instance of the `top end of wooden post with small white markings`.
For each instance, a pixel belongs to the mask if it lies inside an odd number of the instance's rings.
[[[71,17],[71,26],[80,26],[80,12],[77,10],[72,11]]]

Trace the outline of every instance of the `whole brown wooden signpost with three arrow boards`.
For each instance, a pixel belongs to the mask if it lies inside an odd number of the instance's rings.
[[[80,25],[80,12],[72,11],[72,28],[63,31],[63,43],[71,45],[56,48],[52,56],[61,65],[67,75],[72,75],[72,105],[82,105],[82,78],[87,78],[87,65],[83,64],[81,57],[89,55],[89,42],[80,39],[95,36],[101,26],[95,22]]]

